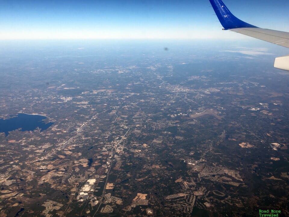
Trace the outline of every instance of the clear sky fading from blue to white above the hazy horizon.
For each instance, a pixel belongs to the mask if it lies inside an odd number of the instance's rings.
[[[224,0],[238,18],[289,31],[288,0]],[[246,38],[222,31],[209,0],[0,0],[0,39]]]

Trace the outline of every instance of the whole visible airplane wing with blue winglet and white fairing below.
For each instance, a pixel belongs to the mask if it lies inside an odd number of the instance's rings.
[[[222,0],[210,0],[210,2],[224,27],[223,30],[231,30],[289,48],[289,33],[253,26],[235,17]],[[275,58],[274,67],[289,71],[289,55]]]

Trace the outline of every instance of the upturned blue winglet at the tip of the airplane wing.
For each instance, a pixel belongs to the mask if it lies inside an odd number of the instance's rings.
[[[210,0],[210,2],[225,30],[247,27],[258,28],[235,17],[222,2],[222,0]]]

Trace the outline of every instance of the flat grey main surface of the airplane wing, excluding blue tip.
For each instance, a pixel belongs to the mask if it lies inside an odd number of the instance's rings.
[[[262,28],[235,28],[231,31],[289,48],[289,33]]]

